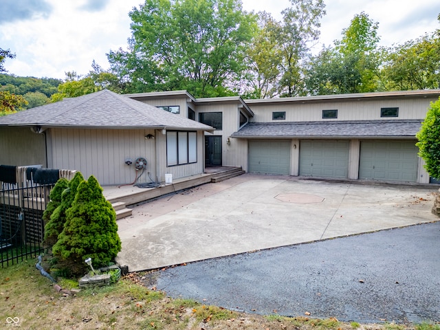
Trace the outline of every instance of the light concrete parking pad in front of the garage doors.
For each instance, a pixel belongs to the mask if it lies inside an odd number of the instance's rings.
[[[437,189],[245,174],[136,206],[117,261],[135,272],[438,221]]]

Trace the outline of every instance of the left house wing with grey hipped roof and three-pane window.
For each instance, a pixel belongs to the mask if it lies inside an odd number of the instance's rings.
[[[1,117],[0,164],[79,170],[103,186],[164,181],[203,173],[210,131],[104,90]]]

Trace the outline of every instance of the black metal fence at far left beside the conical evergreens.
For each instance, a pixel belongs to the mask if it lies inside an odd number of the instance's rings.
[[[43,251],[43,212],[54,184],[18,188],[3,184],[0,190],[1,267],[8,267]]]

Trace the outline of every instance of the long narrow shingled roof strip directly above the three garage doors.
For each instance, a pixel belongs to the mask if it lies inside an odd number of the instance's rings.
[[[421,120],[353,120],[332,122],[251,122],[231,137],[360,138],[415,137]]]

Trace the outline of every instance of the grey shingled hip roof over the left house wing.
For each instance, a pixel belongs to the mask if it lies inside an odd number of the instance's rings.
[[[108,90],[5,115],[0,126],[214,130]]]

